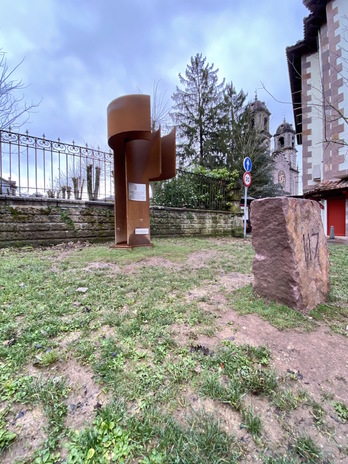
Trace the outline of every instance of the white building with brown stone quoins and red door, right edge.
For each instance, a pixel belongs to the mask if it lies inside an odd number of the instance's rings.
[[[287,48],[302,185],[329,235],[348,236],[348,1],[303,0],[304,39]]]

